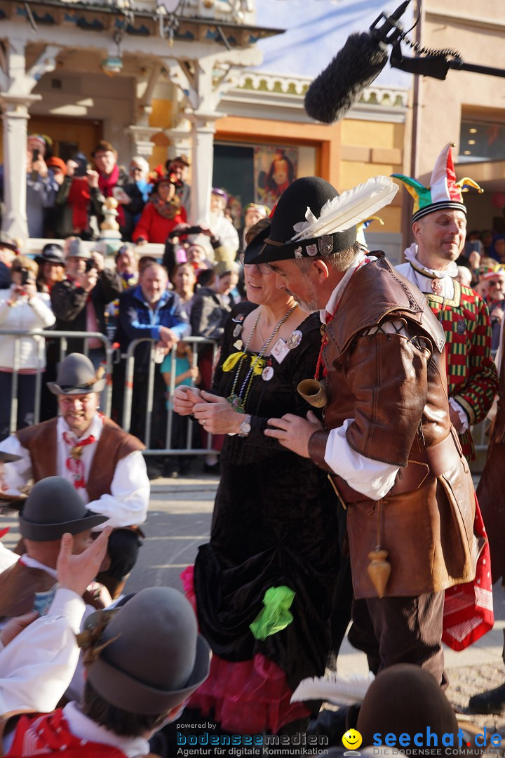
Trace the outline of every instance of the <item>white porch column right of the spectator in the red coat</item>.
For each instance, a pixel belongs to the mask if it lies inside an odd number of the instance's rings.
[[[221,114],[189,114],[192,125],[190,224],[209,224],[210,190],[214,168],[215,122]]]

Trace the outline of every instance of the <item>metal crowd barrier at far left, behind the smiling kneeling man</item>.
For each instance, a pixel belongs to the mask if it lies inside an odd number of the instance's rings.
[[[101,399],[101,406],[104,409],[105,415],[111,415],[111,402],[112,393],[110,391],[111,369],[112,369],[112,346],[110,340],[101,334],[101,332],[86,332],[86,331],[51,331],[51,330],[33,330],[23,331],[20,329],[6,330],[0,329],[0,339],[2,335],[8,337],[14,337],[14,359],[12,365],[12,385],[11,385],[11,421],[9,426],[9,433],[12,434],[17,428],[17,386],[18,376],[20,372],[20,341],[30,337],[36,342],[37,347],[37,367],[36,367],[36,385],[35,385],[35,402],[33,407],[33,422],[37,424],[40,419],[40,390],[42,387],[42,379],[45,371],[45,341],[47,340],[60,340],[60,356],[63,359],[67,355],[67,340],[78,339],[84,340],[84,352],[87,355],[88,340],[95,339],[101,340],[105,350],[105,372],[108,378],[107,385],[104,389],[104,396]],[[44,341],[42,341],[44,340]]]

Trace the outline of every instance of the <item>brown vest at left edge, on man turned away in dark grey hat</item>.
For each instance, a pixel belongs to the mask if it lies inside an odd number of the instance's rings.
[[[56,579],[42,568],[30,568],[20,561],[0,574],[0,618],[28,613],[36,592],[47,592]]]

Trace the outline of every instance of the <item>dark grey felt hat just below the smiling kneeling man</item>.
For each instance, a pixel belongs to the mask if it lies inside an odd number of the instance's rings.
[[[19,524],[21,537],[34,542],[59,540],[65,532],[79,534],[108,520],[84,505],[70,481],[49,476],[33,486],[23,506]]]

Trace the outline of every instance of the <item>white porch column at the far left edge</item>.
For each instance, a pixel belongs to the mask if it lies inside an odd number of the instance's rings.
[[[26,123],[28,108],[39,95],[14,97],[0,92],[4,124],[4,204],[2,229],[8,236],[28,239],[26,222]]]

